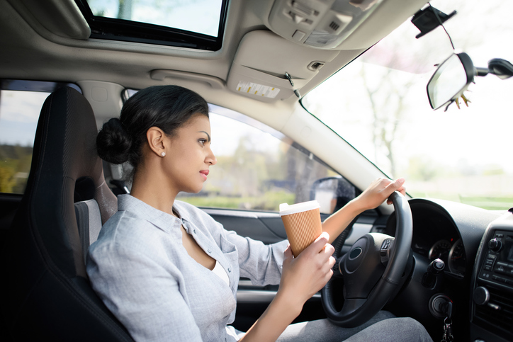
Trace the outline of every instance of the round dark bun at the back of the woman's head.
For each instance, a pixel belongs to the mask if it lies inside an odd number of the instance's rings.
[[[118,118],[105,122],[96,137],[98,156],[111,164],[128,161],[131,146],[130,136]]]

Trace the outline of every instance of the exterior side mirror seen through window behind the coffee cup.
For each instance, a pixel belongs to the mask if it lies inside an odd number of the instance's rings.
[[[310,189],[310,200],[317,200],[321,214],[332,214],[356,197],[356,188],[342,177],[317,179]]]

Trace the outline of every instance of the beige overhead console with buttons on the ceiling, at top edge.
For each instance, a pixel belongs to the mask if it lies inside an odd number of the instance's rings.
[[[266,26],[315,49],[367,49],[414,15],[427,0],[274,0]]]

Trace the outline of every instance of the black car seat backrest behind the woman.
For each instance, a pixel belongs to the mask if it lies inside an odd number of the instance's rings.
[[[26,192],[1,251],[1,312],[16,341],[133,341],[89,285],[74,210],[76,183],[98,203],[101,221],[117,211],[96,154],[89,102],[70,88],[41,110]],[[89,184],[89,185],[88,185]]]

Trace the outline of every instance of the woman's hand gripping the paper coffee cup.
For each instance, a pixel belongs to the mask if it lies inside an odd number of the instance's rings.
[[[329,234],[323,232],[297,258],[293,258],[291,246],[283,253],[283,271],[278,294],[286,297],[295,309],[317,293],[333,275],[334,248],[328,244]]]

